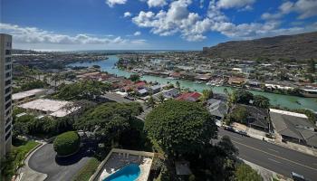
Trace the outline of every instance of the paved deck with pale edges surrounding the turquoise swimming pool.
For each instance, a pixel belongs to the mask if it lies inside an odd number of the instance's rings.
[[[108,156],[102,161],[90,181],[102,181],[106,177],[129,164],[137,164],[140,168],[138,181],[147,181],[154,153],[112,148]]]

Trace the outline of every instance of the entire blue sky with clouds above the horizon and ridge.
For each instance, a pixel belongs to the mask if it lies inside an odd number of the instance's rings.
[[[35,50],[201,50],[317,30],[317,0],[2,0],[1,33]]]

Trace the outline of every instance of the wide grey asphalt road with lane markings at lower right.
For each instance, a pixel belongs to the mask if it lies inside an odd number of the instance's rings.
[[[219,129],[218,136],[224,135],[229,136],[239,149],[239,157],[249,162],[283,176],[291,177],[291,172],[296,172],[311,181],[317,180],[317,157]]]

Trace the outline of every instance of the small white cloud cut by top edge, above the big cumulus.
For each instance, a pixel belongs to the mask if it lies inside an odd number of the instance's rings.
[[[219,8],[244,8],[250,9],[251,5],[255,3],[255,0],[219,0],[216,5]]]

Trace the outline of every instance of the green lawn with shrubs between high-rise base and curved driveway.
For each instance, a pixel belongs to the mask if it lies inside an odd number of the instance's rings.
[[[1,167],[3,174],[7,179],[14,176],[18,167],[23,166],[22,161],[24,160],[26,154],[37,145],[39,145],[39,143],[32,140],[14,140],[12,150],[4,162],[4,167]]]

